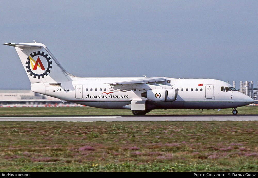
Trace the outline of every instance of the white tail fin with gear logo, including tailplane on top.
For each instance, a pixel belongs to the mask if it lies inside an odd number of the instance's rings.
[[[68,73],[42,43],[5,43],[15,47],[31,83],[59,83],[69,81]]]

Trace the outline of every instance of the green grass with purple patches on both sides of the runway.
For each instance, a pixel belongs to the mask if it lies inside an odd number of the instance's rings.
[[[111,112],[98,109],[90,112],[91,109],[1,108],[0,112],[2,115]],[[248,106],[239,108],[238,113],[256,114],[256,110]],[[118,110],[115,114],[122,115],[122,111],[127,112]],[[165,110],[165,114],[221,111]],[[228,114],[232,114],[231,110]],[[1,122],[0,171],[257,172],[257,126],[258,121]]]

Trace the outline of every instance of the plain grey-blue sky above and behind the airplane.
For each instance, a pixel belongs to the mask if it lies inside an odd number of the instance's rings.
[[[43,43],[80,77],[254,80],[258,1],[0,1],[0,42]],[[30,89],[0,45],[0,89]]]

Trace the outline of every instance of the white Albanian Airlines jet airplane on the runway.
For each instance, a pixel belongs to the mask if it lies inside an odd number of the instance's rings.
[[[62,102],[104,109],[129,109],[145,115],[154,109],[226,109],[254,103],[230,84],[215,79],[167,77],[81,78],[68,73],[42,43],[5,43],[15,47],[31,90]]]

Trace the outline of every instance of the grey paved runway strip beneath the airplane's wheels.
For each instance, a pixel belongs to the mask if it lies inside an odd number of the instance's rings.
[[[117,115],[117,116],[17,116],[0,117],[0,121],[64,121],[64,122],[159,122],[159,121],[258,121],[258,115]]]

